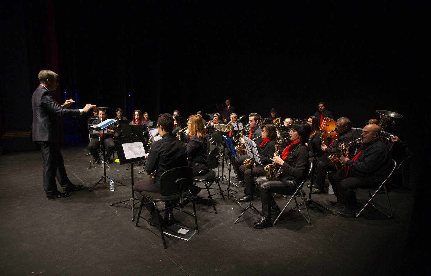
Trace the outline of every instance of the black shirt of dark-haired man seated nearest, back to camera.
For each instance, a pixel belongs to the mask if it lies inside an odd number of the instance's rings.
[[[175,167],[187,166],[187,148],[172,133],[166,133],[162,139],[151,146],[150,154],[145,158],[147,173],[156,171],[153,184],[160,188],[160,177],[165,171]]]

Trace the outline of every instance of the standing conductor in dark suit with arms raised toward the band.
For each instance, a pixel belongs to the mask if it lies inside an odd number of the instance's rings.
[[[33,122],[31,124],[31,139],[41,147],[44,160],[44,190],[48,199],[65,198],[69,192],[82,189],[82,185],[70,182],[64,167],[60,152],[60,116],[78,116],[90,111],[95,105],[86,104],[83,109],[67,109],[73,102],[66,99],[64,104],[56,102],[52,91],[57,89],[58,74],[50,70],[42,70],[38,74],[39,86],[31,97]],[[57,189],[56,179],[65,193]]]

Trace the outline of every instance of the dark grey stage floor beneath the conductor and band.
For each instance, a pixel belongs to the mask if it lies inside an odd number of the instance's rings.
[[[74,184],[87,188],[62,200],[48,200],[42,185],[41,152],[0,156],[1,275],[405,275],[407,235],[414,198],[409,190],[392,189],[394,218],[376,211],[359,218],[335,216],[311,207],[312,223],[297,212],[285,212],[266,229],[254,229],[259,215],[238,206],[233,198],[216,195],[212,206],[197,205],[200,232],[185,241],[165,236],[163,248],[156,227],[145,220],[136,227],[127,205],[110,203],[130,198],[131,171],[127,165],[109,164],[107,176],[116,183],[99,184],[103,168],[87,169],[91,155],[86,147],[62,149],[67,174]],[[142,166],[133,166],[134,180]],[[225,166],[225,174],[228,170]],[[232,170],[233,174],[233,170]],[[234,176],[234,175],[233,175]],[[227,182],[221,183],[222,189]],[[237,198],[243,195],[243,187]],[[309,189],[303,189],[307,196]],[[200,196],[206,196],[203,189]],[[357,193],[365,200],[368,193]],[[376,202],[386,203],[384,195]],[[328,205],[327,193],[312,198]],[[282,208],[287,200],[276,197]],[[259,196],[253,201],[261,210]],[[138,208],[139,205],[136,205]],[[188,211],[192,210],[187,205]],[[144,217],[148,217],[143,210]],[[135,211],[135,217],[137,209]],[[193,227],[191,216],[174,212],[177,223]]]

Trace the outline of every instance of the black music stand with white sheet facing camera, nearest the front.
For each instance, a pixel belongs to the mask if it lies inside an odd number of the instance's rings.
[[[124,137],[124,138],[117,138],[114,139],[114,143],[115,143],[115,148],[117,150],[117,155],[118,155],[118,159],[120,161],[120,165],[122,164],[129,164],[129,166],[133,166],[133,163],[135,162],[141,162],[145,159],[145,143],[144,143],[144,137],[142,136],[142,132],[141,132],[141,136],[139,137]],[[126,200],[122,200],[120,202],[116,202],[116,203],[111,203],[111,206],[117,205],[119,203],[131,206],[132,209],[132,221],[134,221],[134,205],[139,203],[138,202],[134,202],[135,200],[137,200],[136,198],[134,198],[134,194],[133,194],[133,185],[134,185],[134,179],[133,179],[133,167],[130,170],[131,171],[131,197],[129,199]],[[131,204],[126,203],[128,201],[131,201]]]

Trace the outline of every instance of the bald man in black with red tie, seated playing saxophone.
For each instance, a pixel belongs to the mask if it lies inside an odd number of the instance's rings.
[[[338,214],[356,216],[359,212],[355,189],[377,188],[390,171],[391,155],[388,146],[379,138],[380,127],[377,124],[367,124],[361,134],[362,147],[350,159],[341,156],[346,164],[346,170],[333,171],[328,174],[336,202],[329,204],[343,208]]]

